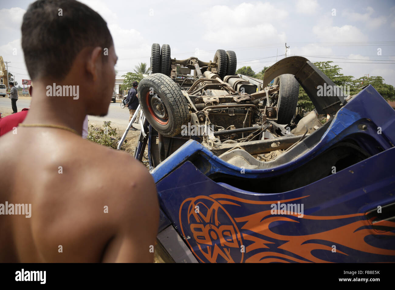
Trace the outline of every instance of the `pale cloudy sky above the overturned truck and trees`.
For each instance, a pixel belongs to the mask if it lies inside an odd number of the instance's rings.
[[[29,79],[21,49],[23,14],[32,1],[0,0],[0,55],[22,86]],[[82,0],[102,15],[122,75],[149,65],[152,43],[171,57],[208,62],[217,49],[233,50],[237,68],[258,73],[287,55],[331,60],[355,78],[381,76],[395,86],[395,0],[130,1]]]

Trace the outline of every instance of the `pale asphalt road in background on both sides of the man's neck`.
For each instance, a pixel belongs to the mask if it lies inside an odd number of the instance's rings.
[[[19,98],[17,101],[18,112],[23,108],[30,106],[30,98],[22,99]],[[3,113],[3,117],[9,115],[12,112],[11,100],[8,97],[0,97],[0,112]],[[108,114],[104,117],[88,116],[89,125],[103,125],[104,121],[111,121],[111,127],[119,128],[121,131],[126,129],[129,124],[129,110],[121,109],[120,103],[110,103]],[[139,124],[133,124],[137,129],[140,128]]]

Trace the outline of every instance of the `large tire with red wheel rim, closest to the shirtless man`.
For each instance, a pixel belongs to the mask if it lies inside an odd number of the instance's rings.
[[[148,122],[164,136],[181,133],[188,123],[188,105],[179,86],[162,73],[142,79],[138,87],[139,102]]]

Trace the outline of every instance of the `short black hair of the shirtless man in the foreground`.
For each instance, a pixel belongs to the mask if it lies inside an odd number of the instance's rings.
[[[82,49],[100,46],[107,60],[104,49],[112,45],[103,18],[75,0],[38,0],[23,15],[22,49],[32,80],[62,80]]]

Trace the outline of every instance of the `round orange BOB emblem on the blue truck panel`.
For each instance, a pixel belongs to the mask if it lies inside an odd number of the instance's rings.
[[[180,225],[183,236],[193,237],[186,242],[201,262],[243,262],[240,231],[217,200],[209,196],[184,200],[180,207]]]

